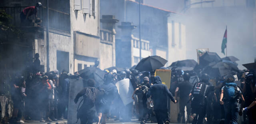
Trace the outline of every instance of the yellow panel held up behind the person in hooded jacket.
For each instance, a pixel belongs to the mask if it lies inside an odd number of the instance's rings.
[[[165,84],[170,89],[171,83],[171,70],[157,69],[155,76],[160,76],[162,84]]]

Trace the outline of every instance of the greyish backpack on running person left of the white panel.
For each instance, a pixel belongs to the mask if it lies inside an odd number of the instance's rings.
[[[84,100],[95,103],[96,101],[96,88],[88,87],[84,93]]]

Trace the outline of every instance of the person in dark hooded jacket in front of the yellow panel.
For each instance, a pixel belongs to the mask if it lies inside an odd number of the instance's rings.
[[[154,102],[154,112],[156,113],[156,119],[158,124],[170,123],[168,114],[168,100],[167,96],[176,103],[172,93],[168,90],[167,86],[162,84],[162,80],[159,76],[154,77],[154,84],[150,86],[150,90],[147,92],[147,97],[152,97]]]

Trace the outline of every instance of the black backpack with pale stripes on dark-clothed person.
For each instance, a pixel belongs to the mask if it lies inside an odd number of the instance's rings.
[[[203,82],[196,82],[194,84],[194,87],[192,88],[192,96],[197,97],[197,96],[204,96],[206,89],[207,89],[208,85],[206,85]]]

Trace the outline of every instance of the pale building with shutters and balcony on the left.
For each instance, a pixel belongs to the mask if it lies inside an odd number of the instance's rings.
[[[102,16],[100,20],[99,0],[49,0],[48,41],[46,0],[41,3],[38,17],[42,22],[24,24],[20,22],[20,12],[27,6],[35,6],[36,2],[1,1],[1,10],[10,14],[12,23],[25,32],[30,44],[30,63],[34,54],[39,53],[43,72],[57,69],[73,73],[93,66],[95,60],[100,61],[101,69],[115,66],[114,23],[118,20],[113,16]],[[30,20],[35,18],[30,17]]]

